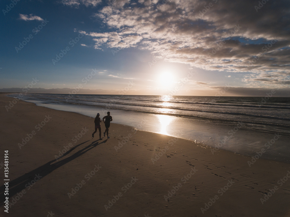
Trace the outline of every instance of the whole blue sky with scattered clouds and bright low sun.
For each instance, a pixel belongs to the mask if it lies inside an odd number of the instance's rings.
[[[288,0],[5,0],[0,9],[0,91],[290,96]]]

